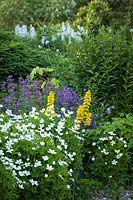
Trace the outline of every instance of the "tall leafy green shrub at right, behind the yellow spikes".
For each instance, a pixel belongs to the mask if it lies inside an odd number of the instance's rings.
[[[115,112],[132,110],[132,52],[133,40],[128,30],[114,31],[101,27],[95,35],[89,32],[79,45],[71,46],[75,60],[76,87],[89,88],[94,110],[115,106]]]

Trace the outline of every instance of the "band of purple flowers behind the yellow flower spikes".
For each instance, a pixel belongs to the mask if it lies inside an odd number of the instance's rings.
[[[3,111],[11,109],[13,113],[19,114],[21,111],[28,113],[32,107],[43,109],[47,103],[47,95],[50,91],[54,91],[55,111],[59,113],[61,107],[64,107],[76,113],[80,98],[72,88],[55,88],[49,81],[43,88],[41,85],[41,81],[33,81],[29,77],[19,78],[18,82],[15,82],[11,75],[8,76],[7,80],[1,83],[0,88],[3,94],[3,98],[0,99]]]

